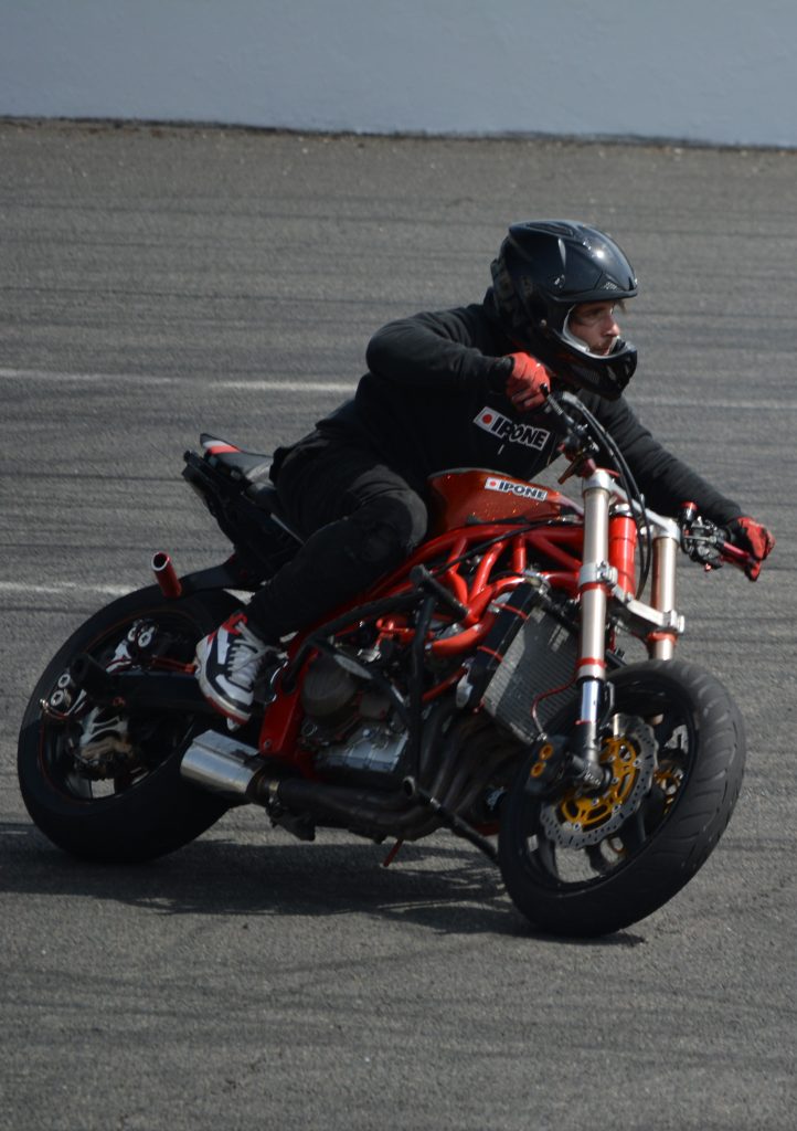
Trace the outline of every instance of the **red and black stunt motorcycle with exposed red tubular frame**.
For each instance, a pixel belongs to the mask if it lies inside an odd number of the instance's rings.
[[[99,610],[49,664],[19,737],[36,826],[78,857],[136,862],[252,803],[302,840],[390,838],[385,864],[448,829],[558,935],[618,931],[667,903],[719,840],[745,759],[727,690],[675,657],[678,552],[705,569],[752,561],[694,506],[677,521],[646,507],[578,398],[546,412],[560,486],[577,476],[581,498],[490,469],[433,476],[427,541],[284,641],[235,729],[199,690],[196,645],[302,539],[269,457],[203,434],[183,476],[233,553],[182,577],[156,553],[156,584]],[[646,658],[629,662],[634,641]]]

